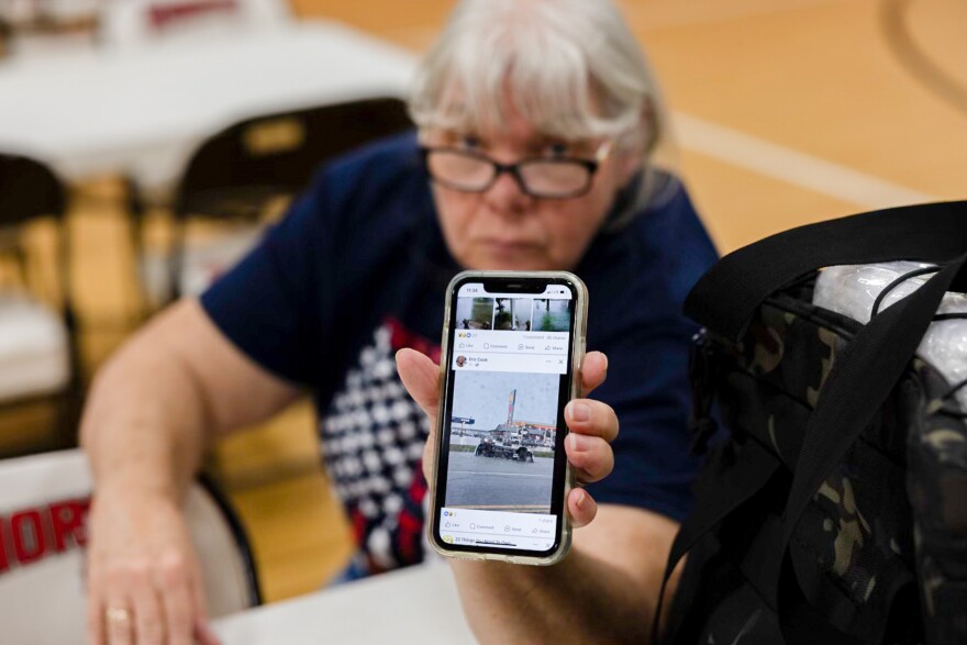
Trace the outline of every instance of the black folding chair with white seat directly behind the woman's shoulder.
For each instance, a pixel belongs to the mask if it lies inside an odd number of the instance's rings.
[[[145,283],[148,300],[160,305],[199,292],[255,244],[267,209],[301,190],[320,164],[412,126],[403,101],[377,98],[246,119],[210,137],[179,181],[165,283]],[[223,238],[227,243],[221,257],[214,246],[192,249],[187,230],[196,220],[235,226]],[[137,226],[135,231],[140,243]],[[199,278],[192,271],[198,265],[208,275]],[[157,280],[158,270],[154,273]]]

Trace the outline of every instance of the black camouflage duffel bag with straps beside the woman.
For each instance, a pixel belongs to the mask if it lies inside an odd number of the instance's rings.
[[[940,267],[867,324],[812,303],[821,267],[896,259]],[[964,383],[914,355],[958,316],[936,315],[947,291],[967,292],[967,202],[794,229],[698,282],[691,425],[718,441],[659,642],[967,644]]]

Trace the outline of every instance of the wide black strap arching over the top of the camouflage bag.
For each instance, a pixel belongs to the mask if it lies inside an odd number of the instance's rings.
[[[967,201],[919,204],[809,224],[723,257],[691,290],[686,314],[738,340],[774,292],[820,267],[896,259],[946,263],[967,251]]]

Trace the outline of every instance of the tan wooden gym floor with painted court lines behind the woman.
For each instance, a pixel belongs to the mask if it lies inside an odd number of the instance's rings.
[[[291,0],[421,52],[451,0]],[[967,197],[967,4],[957,0],[626,0],[673,113],[671,163],[720,251],[793,225]],[[105,321],[136,304],[121,212],[80,187],[78,298]],[[97,325],[95,325],[97,326]],[[127,330],[86,334],[96,365]],[[254,541],[264,591],[312,591],[343,565],[345,522],[301,403],[224,442],[211,467]]]

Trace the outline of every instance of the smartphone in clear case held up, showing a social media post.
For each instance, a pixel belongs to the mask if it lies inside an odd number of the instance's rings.
[[[567,271],[451,281],[427,522],[441,554],[531,565],[567,554],[564,408],[580,396],[587,311]]]

